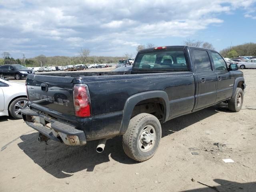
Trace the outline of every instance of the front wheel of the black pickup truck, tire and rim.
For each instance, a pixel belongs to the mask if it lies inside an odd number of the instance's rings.
[[[236,92],[230,100],[228,100],[228,109],[233,112],[238,112],[242,108],[244,101],[244,93],[241,88],[236,88]]]

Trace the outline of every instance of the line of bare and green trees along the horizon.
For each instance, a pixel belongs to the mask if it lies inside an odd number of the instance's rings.
[[[202,47],[214,50],[214,46],[209,42],[203,42],[200,40],[187,39],[183,42],[183,45]],[[0,65],[3,64],[22,64],[24,60],[27,67],[37,66],[67,66],[75,64],[103,64],[103,63],[117,63],[118,60],[135,57],[137,52],[145,48],[153,48],[156,45],[147,43],[146,45],[140,44],[136,47],[134,53],[126,52],[124,56],[110,57],[110,56],[90,56],[90,49],[82,49],[78,51],[79,56],[50,56],[39,55],[34,58],[17,58],[14,59],[9,52],[3,52],[2,58],[0,58]],[[238,56],[256,56],[256,43],[245,43],[230,48],[225,48],[220,51],[220,54],[226,58],[234,58]]]

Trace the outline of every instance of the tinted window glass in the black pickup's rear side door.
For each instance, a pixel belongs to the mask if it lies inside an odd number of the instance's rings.
[[[210,58],[207,51],[194,50],[194,63],[196,67],[196,73],[200,72],[212,72]]]

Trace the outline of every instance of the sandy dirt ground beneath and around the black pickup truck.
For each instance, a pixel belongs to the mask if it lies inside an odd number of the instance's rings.
[[[23,120],[0,117],[0,147],[9,143],[0,152],[0,191],[256,192],[256,70],[243,72],[240,112],[213,106],[162,124],[158,151],[142,163],[124,154],[121,136],[101,154],[97,141],[46,146]]]

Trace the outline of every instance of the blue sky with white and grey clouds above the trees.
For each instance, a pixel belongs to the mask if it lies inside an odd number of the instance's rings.
[[[0,54],[136,54],[139,44],[256,43],[256,0],[0,0]],[[135,56],[135,55],[134,55]]]

